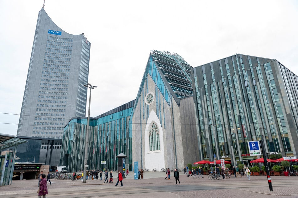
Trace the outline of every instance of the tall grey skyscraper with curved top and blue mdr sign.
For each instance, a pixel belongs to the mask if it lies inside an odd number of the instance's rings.
[[[18,136],[61,139],[86,114],[90,42],[58,27],[41,8],[29,62]]]

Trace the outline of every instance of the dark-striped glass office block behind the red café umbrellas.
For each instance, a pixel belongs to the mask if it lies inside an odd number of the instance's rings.
[[[263,140],[269,158],[297,156],[298,77],[274,59],[236,54],[192,70],[200,159],[256,158],[248,141]],[[219,158],[218,157],[218,158]]]

